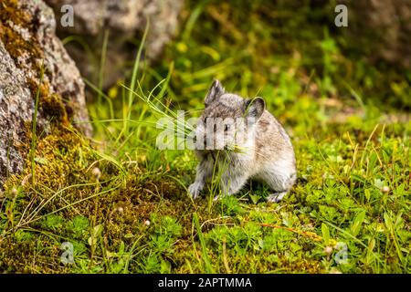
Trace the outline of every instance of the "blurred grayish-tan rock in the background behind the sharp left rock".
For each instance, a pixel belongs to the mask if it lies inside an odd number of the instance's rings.
[[[133,39],[140,40],[149,19],[146,41],[147,60],[160,56],[163,47],[174,36],[184,0],[45,0],[58,19],[63,5],[74,8],[74,26],[58,25],[58,34],[80,36],[82,44],[70,42],[68,53],[76,60],[81,74],[97,83],[102,35],[109,32],[103,87],[124,77],[124,68],[135,57]],[[85,49],[85,46],[88,47]]]

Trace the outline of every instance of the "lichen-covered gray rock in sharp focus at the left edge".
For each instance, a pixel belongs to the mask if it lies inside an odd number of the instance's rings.
[[[37,129],[50,120],[87,121],[79,70],[55,35],[53,11],[41,0],[3,0],[0,9],[0,189],[7,176],[21,172],[40,89]],[[40,71],[44,62],[44,78]],[[91,134],[89,123],[77,123]]]

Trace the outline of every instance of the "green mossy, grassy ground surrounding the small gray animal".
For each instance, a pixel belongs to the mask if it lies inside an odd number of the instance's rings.
[[[94,94],[92,140],[38,133],[34,171],[5,183],[1,271],[411,272],[410,72],[357,57],[321,11],[238,2],[189,2],[163,61],[140,62],[145,101],[128,75]],[[194,153],[155,147],[146,98],[198,116],[213,78],[264,97],[290,133],[298,183],[281,202],[260,183],[193,201]]]

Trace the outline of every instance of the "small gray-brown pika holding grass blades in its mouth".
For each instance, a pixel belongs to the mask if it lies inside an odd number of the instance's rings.
[[[239,192],[248,179],[269,184],[274,191],[268,197],[271,203],[290,191],[297,177],[294,150],[284,128],[265,107],[264,99],[243,99],[214,81],[195,129],[200,162],[189,186],[193,198],[216,170],[222,195]]]

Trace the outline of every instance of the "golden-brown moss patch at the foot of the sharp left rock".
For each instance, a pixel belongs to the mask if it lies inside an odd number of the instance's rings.
[[[124,243],[130,247],[137,236],[143,236],[142,245],[148,244],[153,232],[158,230],[154,214],[159,214],[159,218],[175,218],[179,225],[184,226],[179,239],[190,241],[190,226],[195,211],[200,212],[202,218],[216,216],[206,211],[206,204],[201,208],[195,207],[184,189],[173,180],[159,179],[162,172],[157,175],[153,173],[147,179],[143,175],[145,170],[129,169],[127,183],[123,185],[119,170],[111,162],[101,161],[89,141],[72,129],[52,126],[51,134],[37,142],[35,157],[35,184],[30,183],[29,168],[5,183],[6,193],[12,193],[16,188],[20,191],[16,203],[12,207],[9,205],[10,216],[3,227],[6,233],[0,237],[0,250],[5,259],[0,261],[0,270],[50,271],[47,266],[51,265],[54,272],[63,272],[67,266],[59,262],[58,256],[62,251],[58,247],[64,241],[79,242],[87,246],[84,252],[91,253],[93,249],[93,256],[98,258],[104,255],[104,250],[117,250]],[[92,174],[94,167],[99,167],[101,172],[98,181]],[[31,207],[21,220],[27,206]],[[41,210],[33,217],[35,220],[29,222],[29,215],[34,214],[36,207],[41,207]],[[54,213],[57,211],[56,217]],[[48,217],[50,214],[51,217]],[[83,231],[89,234],[85,237],[79,237],[79,231],[74,233],[68,228],[79,215],[88,219],[91,230],[101,226],[103,232],[96,239],[99,242],[97,246],[91,247],[89,244],[90,228]],[[153,220],[154,229],[144,224],[146,220]],[[158,224],[163,223],[159,221]],[[11,228],[16,228],[16,231]],[[16,240],[16,232],[22,229],[32,230],[34,237]],[[162,239],[159,240],[161,242]],[[38,249],[35,242],[47,248]],[[153,245],[153,249],[156,248],[160,248],[159,245]],[[34,250],[37,252],[33,253]],[[164,250],[166,255],[169,251]],[[146,255],[143,253],[142,256]],[[162,255],[159,256],[162,258]],[[37,262],[38,258],[44,261]],[[36,266],[31,266],[34,261],[37,262]],[[73,268],[76,270],[79,266],[70,266],[70,269]],[[141,271],[137,266],[132,266],[132,269]]]

